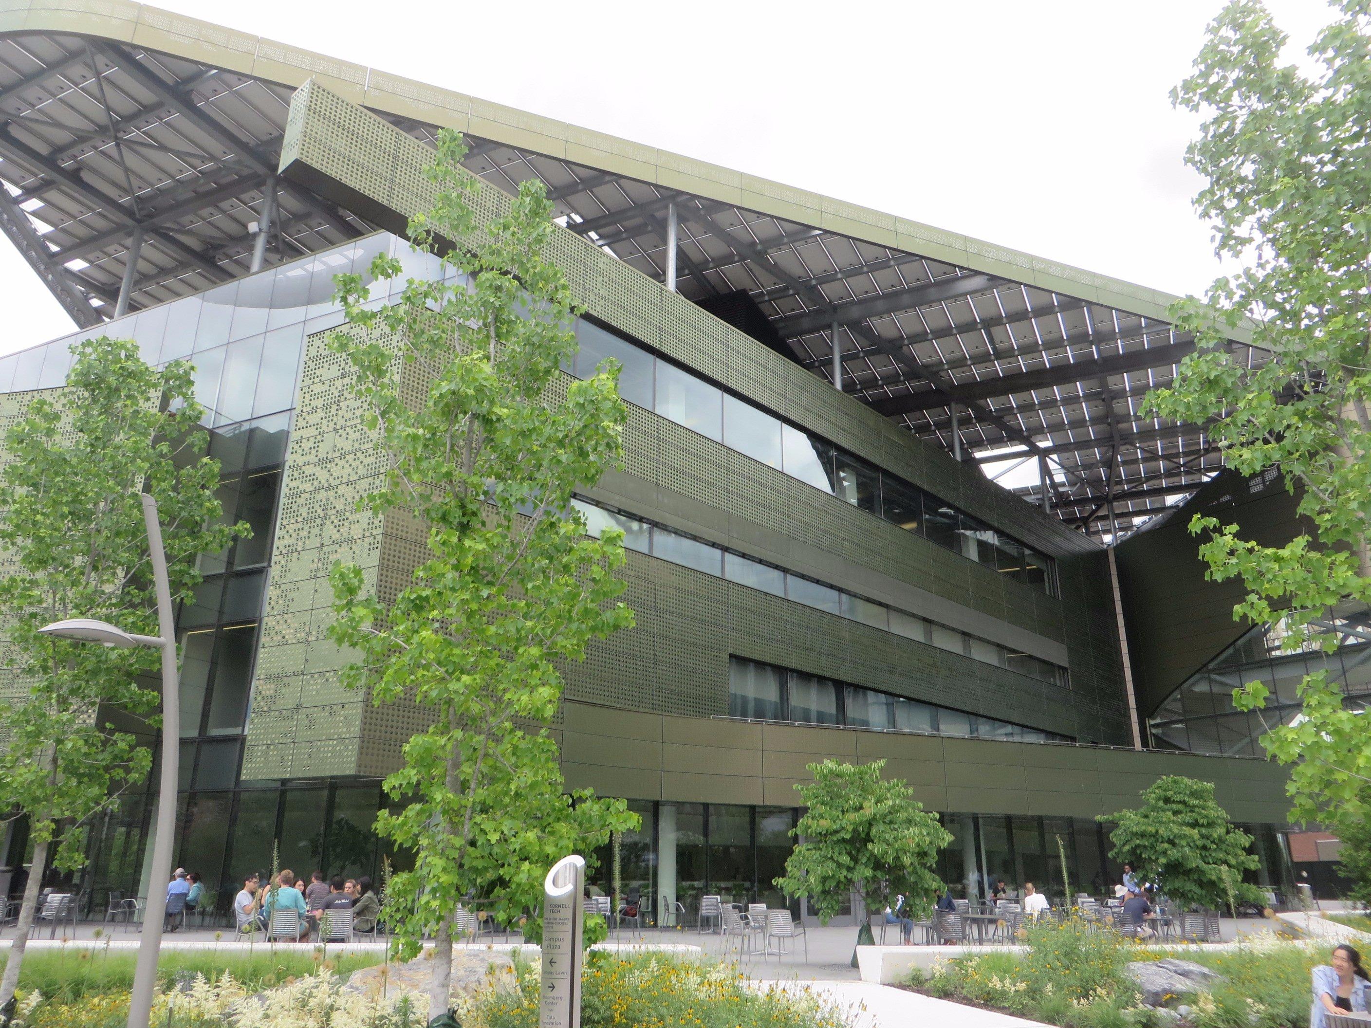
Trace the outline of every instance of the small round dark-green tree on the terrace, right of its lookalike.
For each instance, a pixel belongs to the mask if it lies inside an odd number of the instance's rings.
[[[1156,881],[1182,909],[1219,910],[1237,901],[1263,901],[1242,872],[1261,862],[1249,853],[1252,836],[1234,828],[1213,798],[1213,784],[1179,774],[1157,779],[1142,792],[1142,806],[1102,814],[1116,861],[1128,861],[1139,881]]]

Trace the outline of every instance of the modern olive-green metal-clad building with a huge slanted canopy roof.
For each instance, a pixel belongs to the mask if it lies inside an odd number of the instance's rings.
[[[1216,477],[1202,428],[1138,414],[1193,347],[1171,297],[132,3],[0,0],[0,225],[80,328],[0,359],[0,421],[62,388],[73,340],[188,358],[255,529],[180,610],[177,864],[221,903],[273,850],[403,861],[369,827],[422,711],[340,687],[326,574],[359,561],[384,599],[422,536],[356,511],[380,466],[324,339],[335,274],[383,251],[433,271],[395,233],[443,126],[483,214],[547,184],[587,310],[569,373],[624,366],[625,467],[583,503],[627,533],[638,625],[568,669],[557,732],[569,787],[642,813],[624,876],[650,909],[775,899],[825,757],[909,781],[968,892],[1060,892],[1063,858],[1102,888],[1094,818],[1161,774],[1213,781],[1256,877],[1289,883],[1285,774],[1223,706],[1238,669],[1285,665],[1183,519],[1227,503],[1279,535],[1293,509]],[[1016,463],[1016,488],[984,473]],[[148,887],[151,807],[95,833],[95,906]],[[5,842],[14,872],[22,825]]]

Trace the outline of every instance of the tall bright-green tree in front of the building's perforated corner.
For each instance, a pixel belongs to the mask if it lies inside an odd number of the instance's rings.
[[[389,603],[361,567],[333,569],[330,637],[355,648],[344,673],[374,702],[418,703],[432,718],[385,780],[399,813],[377,831],[415,855],[389,883],[403,953],[437,940],[430,1017],[448,1009],[462,896],[514,920],[536,909],[551,862],[633,828],[624,800],[566,795],[547,733],[562,696],[558,665],[632,624],[617,596],[622,533],[585,536],[572,504],[621,455],[617,370],[566,381],[577,313],[544,251],[555,230],[542,184],[525,182],[507,215],[477,226],[480,184],[461,167],[455,133],[428,170],[435,208],[410,223],[441,254],[441,277],[411,280],[399,303],[369,310],[358,276],[339,278],[350,329],[330,345],[354,369],[365,424],[387,456],[363,503],[426,528],[425,559]],[[455,244],[455,245],[452,245]],[[377,278],[399,274],[381,256]],[[536,932],[537,928],[535,927]]]

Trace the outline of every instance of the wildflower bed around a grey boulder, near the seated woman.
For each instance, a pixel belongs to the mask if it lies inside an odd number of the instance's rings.
[[[1309,972],[1326,947],[1253,936],[1223,951],[1139,946],[1079,921],[1034,927],[1023,953],[986,953],[912,972],[906,987],[1004,1010],[1063,1028],[1305,1028]],[[1222,980],[1176,996],[1171,1009],[1142,1003],[1124,973],[1131,961],[1163,957],[1202,964]]]

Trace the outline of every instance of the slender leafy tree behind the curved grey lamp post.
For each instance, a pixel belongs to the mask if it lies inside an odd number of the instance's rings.
[[[0,980],[10,1001],[49,866],[84,865],[85,828],[148,774],[149,752],[108,724],[147,713],[158,694],[151,648],[117,650],[48,639],[70,617],[156,635],[156,599],[140,492],[158,500],[173,595],[200,581],[199,554],[222,550],[245,525],[219,525],[219,462],[204,456],[203,410],[191,367],[162,370],[134,343],[74,348],[67,388],[32,400],[5,433],[0,472],[0,578],[8,699],[0,705],[0,807],[27,817],[33,861]]]

